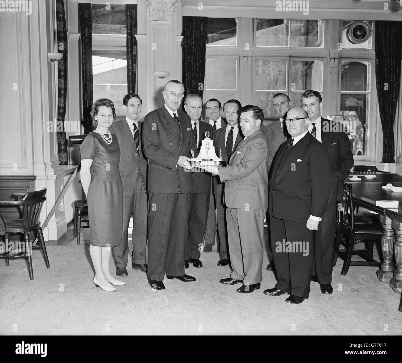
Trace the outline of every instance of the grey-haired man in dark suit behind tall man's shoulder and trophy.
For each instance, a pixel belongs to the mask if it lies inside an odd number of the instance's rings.
[[[202,98],[197,94],[187,95],[184,108],[191,118],[194,143],[199,150],[207,131],[208,137],[213,138],[212,126],[199,121],[202,112]],[[211,175],[198,167],[193,168],[192,175],[194,190],[190,194],[189,236],[185,254],[186,268],[189,267],[189,262],[194,267],[202,267],[200,261],[201,246],[207,226],[209,197],[211,195]]]

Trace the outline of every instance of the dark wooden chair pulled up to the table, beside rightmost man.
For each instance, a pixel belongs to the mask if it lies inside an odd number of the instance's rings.
[[[379,223],[355,223],[352,196],[352,185],[345,183],[343,200],[337,211],[333,262],[335,266],[338,256],[343,259],[341,275],[346,275],[350,266],[381,266],[381,262],[373,259],[373,249],[374,242],[381,241],[382,226]],[[343,243],[342,236],[346,238],[346,243]],[[362,241],[367,243],[367,248],[355,249],[356,243]],[[343,245],[345,249],[340,249],[340,245]],[[359,256],[365,261],[352,261],[352,256]]]

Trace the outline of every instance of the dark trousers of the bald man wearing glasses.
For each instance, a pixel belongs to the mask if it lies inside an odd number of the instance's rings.
[[[275,288],[295,296],[310,293],[310,277],[314,256],[314,231],[307,229],[306,222],[293,222],[270,216],[271,245],[278,282]],[[303,251],[283,251],[285,241],[308,241],[308,254]],[[280,244],[277,245],[277,242]]]

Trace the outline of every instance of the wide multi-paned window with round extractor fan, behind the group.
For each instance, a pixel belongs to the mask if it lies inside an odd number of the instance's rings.
[[[370,160],[375,51],[373,22],[364,23],[355,34],[366,24],[369,34],[356,40],[350,31],[356,23],[349,20],[209,18],[204,98],[255,104],[269,123],[278,118],[275,93],[286,93],[292,106],[301,107],[303,92],[316,90],[322,116],[345,124],[355,159]]]

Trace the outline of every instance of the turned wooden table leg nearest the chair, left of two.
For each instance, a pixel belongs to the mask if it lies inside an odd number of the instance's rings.
[[[377,277],[381,283],[388,284],[394,272],[394,249],[395,232],[392,229],[392,220],[387,216],[379,216],[382,224],[381,249],[384,261],[377,271]]]

